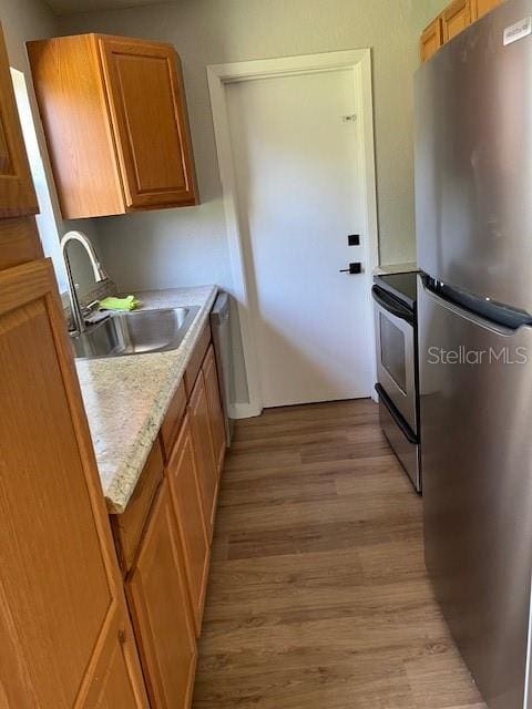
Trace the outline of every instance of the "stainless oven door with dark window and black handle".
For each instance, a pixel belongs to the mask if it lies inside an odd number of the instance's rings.
[[[375,301],[377,378],[396,409],[418,433],[413,315],[378,286]]]

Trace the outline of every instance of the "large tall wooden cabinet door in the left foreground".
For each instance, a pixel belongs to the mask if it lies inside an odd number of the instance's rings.
[[[0,705],[93,707],[106,682],[146,707],[49,259],[0,273]]]

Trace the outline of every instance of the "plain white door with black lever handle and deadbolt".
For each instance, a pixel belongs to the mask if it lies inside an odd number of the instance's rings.
[[[352,71],[226,91],[263,404],[368,397],[367,279],[339,273],[365,266]]]

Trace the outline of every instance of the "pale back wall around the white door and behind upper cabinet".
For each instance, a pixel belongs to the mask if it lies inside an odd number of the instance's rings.
[[[381,263],[413,260],[412,74],[419,33],[444,2],[180,0],[61,18],[63,33],[170,41],[184,66],[202,205],[101,219],[111,274],[126,289],[231,284],[207,64],[361,47],[374,50]]]

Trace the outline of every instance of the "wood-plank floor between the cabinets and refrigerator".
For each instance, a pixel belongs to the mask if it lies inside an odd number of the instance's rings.
[[[421,500],[368,400],[241,422],[194,709],[485,709],[424,572]]]

